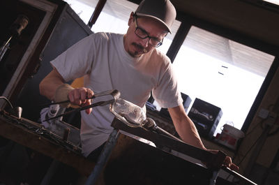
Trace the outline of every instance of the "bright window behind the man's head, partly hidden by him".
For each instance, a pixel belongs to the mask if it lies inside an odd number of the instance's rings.
[[[87,24],[96,7],[98,0],[64,0],[66,1],[75,13]],[[117,34],[125,34],[128,29],[128,19],[130,13],[137,9],[137,4],[127,0],[108,0],[100,13],[96,24],[93,24],[91,30],[93,32],[113,32]],[[158,50],[167,53],[169,46],[180,26],[179,21],[175,21],[172,26],[172,34],[167,34],[163,41],[163,45],[158,47]]]

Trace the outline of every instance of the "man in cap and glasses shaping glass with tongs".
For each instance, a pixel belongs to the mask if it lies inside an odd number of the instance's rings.
[[[90,105],[95,93],[118,89],[121,98],[144,108],[153,97],[168,108],[181,139],[206,149],[193,121],[187,116],[169,58],[156,47],[170,32],[176,10],[169,0],[145,0],[131,13],[126,34],[97,33],[88,36],[51,61],[53,71],[40,83],[40,93],[50,100],[67,98],[75,105]],[[84,76],[84,87],[73,89],[65,82]],[[81,112],[84,156],[100,149],[112,132],[114,115],[108,106]],[[237,167],[230,158],[225,161]]]

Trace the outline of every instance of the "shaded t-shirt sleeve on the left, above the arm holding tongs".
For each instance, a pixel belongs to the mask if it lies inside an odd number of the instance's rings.
[[[96,48],[95,38],[94,34],[83,38],[50,61],[66,82],[82,77],[91,71]]]

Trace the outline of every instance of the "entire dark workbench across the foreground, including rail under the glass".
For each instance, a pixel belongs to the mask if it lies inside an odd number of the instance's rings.
[[[0,111],[0,135],[57,161],[99,184],[216,184],[225,154],[211,154],[166,135],[132,128],[119,119],[96,163],[82,156],[80,146],[47,131],[40,124]],[[142,140],[149,141],[149,144]],[[151,141],[151,142],[150,142]],[[153,145],[150,145],[153,144]],[[156,145],[156,147],[154,146]],[[206,163],[174,155],[179,151]],[[93,177],[93,181],[92,181]],[[229,182],[227,182],[229,183]]]

